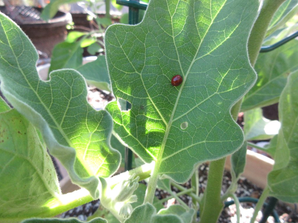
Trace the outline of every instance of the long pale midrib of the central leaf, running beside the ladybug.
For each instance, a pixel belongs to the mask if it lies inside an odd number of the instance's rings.
[[[227,1],[227,0],[226,0],[226,1]],[[170,134],[170,129],[171,129],[171,126],[172,126],[172,124],[173,124],[173,118],[174,118],[174,115],[175,115],[175,112],[176,112],[176,109],[177,109],[177,106],[178,106],[178,102],[179,102],[179,99],[180,99],[180,96],[181,96],[182,89],[183,89],[184,84],[185,84],[185,82],[186,82],[187,76],[188,76],[188,74],[189,74],[191,68],[193,67],[193,63],[195,62],[195,58],[196,58],[197,55],[198,55],[199,49],[200,49],[202,43],[204,42],[204,38],[206,37],[206,34],[208,33],[210,27],[211,27],[212,24],[213,24],[213,21],[215,20],[215,18],[217,18],[218,13],[221,11],[221,9],[222,9],[222,7],[224,6],[224,4],[226,3],[226,1],[224,1],[224,3],[222,4],[221,8],[218,10],[218,12],[217,12],[216,15],[214,16],[214,18],[211,20],[208,29],[206,30],[204,36],[203,36],[202,39],[201,39],[201,43],[198,45],[198,49],[197,49],[197,51],[196,51],[196,53],[195,53],[195,56],[193,57],[192,62],[190,63],[190,66],[189,66],[189,68],[188,68],[188,70],[187,70],[187,73],[185,74],[184,81],[182,81],[180,90],[179,90],[178,95],[177,95],[177,99],[176,99],[176,102],[175,102],[175,105],[174,105],[174,108],[173,108],[173,112],[172,112],[172,114],[171,114],[171,116],[170,116],[170,120],[169,120],[168,125],[167,125],[167,127],[166,127],[166,131],[165,131],[165,134],[164,134],[164,138],[163,138],[163,140],[162,140],[162,145],[161,145],[161,148],[160,148],[160,151],[159,151],[159,154],[158,154],[158,157],[157,157],[157,162],[156,162],[156,165],[155,165],[154,168],[158,168],[158,169],[159,169],[159,167],[160,167],[160,165],[161,165],[161,162],[162,162],[162,156],[163,156],[163,153],[164,153],[164,148],[165,148],[165,145],[166,145],[166,142],[167,142],[167,138],[168,138],[168,136],[169,136],[169,134]],[[212,15],[210,15],[210,17],[212,18]],[[172,29],[173,29],[173,23],[172,23]],[[174,33],[173,33],[173,41],[175,42],[175,40],[174,40]],[[176,45],[175,45],[175,48],[176,48]],[[179,54],[178,54],[178,50],[177,50],[177,48],[176,48],[176,52],[177,52],[177,57],[178,57],[178,59],[179,59]],[[180,61],[180,59],[179,59],[179,61]],[[181,70],[181,72],[183,73],[183,70]]]

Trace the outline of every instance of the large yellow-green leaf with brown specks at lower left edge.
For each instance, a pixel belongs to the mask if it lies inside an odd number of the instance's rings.
[[[0,222],[49,210],[60,188],[52,160],[34,126],[15,109],[0,114]]]

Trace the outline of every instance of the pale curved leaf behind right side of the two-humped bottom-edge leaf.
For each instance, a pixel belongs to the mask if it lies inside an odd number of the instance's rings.
[[[187,211],[181,205],[171,205],[168,208],[161,209],[157,214],[175,214],[180,216],[184,223],[193,222],[193,217],[195,216],[195,210],[190,209]]]

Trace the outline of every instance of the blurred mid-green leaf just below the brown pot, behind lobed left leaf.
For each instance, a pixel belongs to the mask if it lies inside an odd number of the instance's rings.
[[[83,49],[80,45],[81,41],[75,43],[62,42],[55,45],[52,53],[49,73],[53,70],[62,68],[75,69],[82,65]]]

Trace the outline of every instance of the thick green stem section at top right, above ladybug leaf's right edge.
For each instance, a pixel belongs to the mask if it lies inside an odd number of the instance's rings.
[[[285,0],[264,0],[259,17],[254,23],[248,41],[249,59],[254,67],[259,55],[267,28],[276,10]]]

